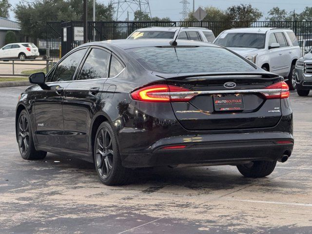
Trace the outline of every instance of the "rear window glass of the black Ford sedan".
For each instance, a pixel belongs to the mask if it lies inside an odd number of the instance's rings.
[[[224,48],[141,47],[127,50],[148,70],[160,73],[249,72],[255,68]]]

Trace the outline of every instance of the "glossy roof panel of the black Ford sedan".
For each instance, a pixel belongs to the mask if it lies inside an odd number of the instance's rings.
[[[136,40],[120,39],[120,40],[105,40],[97,43],[112,44],[126,50],[138,47],[171,46],[170,41],[172,41],[172,39],[136,39]],[[176,42],[178,46],[221,47],[219,45],[212,44],[209,42],[194,41],[194,40],[176,40]],[[90,42],[89,44],[93,43],[96,42]]]

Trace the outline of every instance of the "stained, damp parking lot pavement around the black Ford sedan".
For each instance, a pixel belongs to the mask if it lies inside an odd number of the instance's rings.
[[[0,233],[312,233],[312,95],[292,93],[295,148],[266,178],[234,166],[138,170],[108,187],[93,164],[20,157],[15,106],[24,87],[0,88]]]

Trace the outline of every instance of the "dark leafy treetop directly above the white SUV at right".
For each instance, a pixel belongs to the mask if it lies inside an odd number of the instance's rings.
[[[257,8],[253,8],[251,4],[231,6],[226,10],[226,14],[230,21],[246,23],[259,20],[262,17],[262,13]]]

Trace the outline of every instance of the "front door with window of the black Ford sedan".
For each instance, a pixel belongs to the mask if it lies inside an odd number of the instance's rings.
[[[40,145],[64,148],[64,122],[62,102],[64,89],[87,48],[76,50],[64,57],[46,77],[49,90],[39,89],[35,99],[36,137]]]

